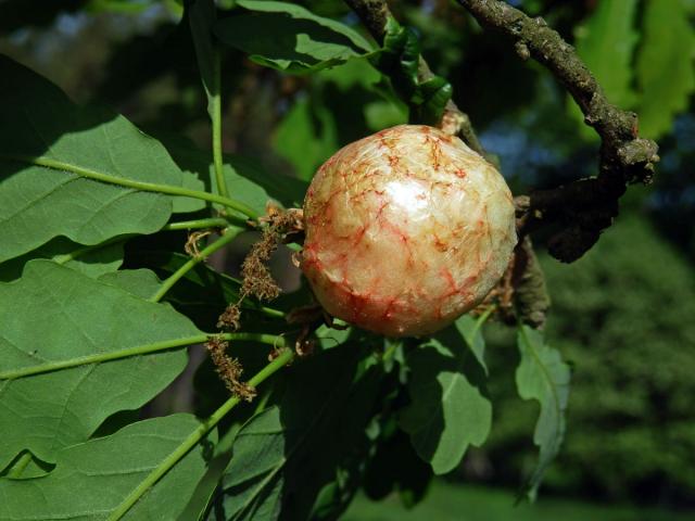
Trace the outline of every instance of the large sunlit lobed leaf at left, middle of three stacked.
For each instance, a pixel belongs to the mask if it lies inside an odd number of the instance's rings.
[[[185,350],[10,379],[46,365],[122,350],[188,345],[200,331],[167,304],[134,294],[151,274],[109,275],[98,281],[50,260],[31,260],[21,279],[0,283],[0,308],[12,309],[0,333],[0,469],[29,449],[53,461],[62,447],[84,442],[114,412],[141,407],[179,374]],[[143,277],[144,276],[144,277]],[[129,279],[129,291],[117,287]],[[188,342],[189,344],[192,342]]]

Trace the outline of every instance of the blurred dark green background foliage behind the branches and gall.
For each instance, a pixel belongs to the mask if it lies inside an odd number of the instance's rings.
[[[340,1],[296,3],[358,27]],[[566,443],[544,490],[692,507],[695,1],[509,3],[544,16],[577,47],[609,100],[640,113],[641,132],[658,140],[661,156],[654,186],[629,191],[617,224],[584,258],[563,266],[542,256],[554,301],[547,339],[573,364]],[[483,33],[454,2],[391,7],[453,84],[515,193],[595,173],[596,136],[547,72],[519,60],[509,41]],[[174,0],[4,0],[0,52],[164,142],[207,148],[205,97],[182,13]],[[407,107],[366,60],[291,76],[228,50],[223,71],[225,150],[271,171],[309,179],[339,147],[407,120]],[[543,249],[543,237],[536,245]],[[492,326],[486,335],[493,431],[451,480],[515,486],[535,454],[534,405],[516,397],[513,333]],[[399,461],[389,465],[397,472]]]

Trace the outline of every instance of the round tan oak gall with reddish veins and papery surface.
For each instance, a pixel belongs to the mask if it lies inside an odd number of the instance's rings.
[[[351,143],[304,201],[301,267],[331,315],[389,336],[478,305],[517,242],[503,177],[456,137],[401,125]]]

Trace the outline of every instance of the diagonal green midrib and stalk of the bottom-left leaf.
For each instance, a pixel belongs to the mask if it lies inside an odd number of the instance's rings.
[[[294,352],[292,350],[285,350],[280,355],[275,358],[270,364],[265,366],[258,371],[251,380],[249,384],[257,386],[280,368],[292,361],[294,358]],[[235,408],[240,402],[238,396],[232,396],[225,402],[213,415],[203,421],[198,429],[195,429],[184,442],[170,453],[154,470],[152,470],[147,478],[130,493],[128,496],[111,512],[108,521],[117,521],[123,518],[125,513],[132,507],[142,495],[144,495],[164,474],[166,474],[178,461],[188,454],[208,432],[213,429],[219,420],[222,420],[232,408]]]

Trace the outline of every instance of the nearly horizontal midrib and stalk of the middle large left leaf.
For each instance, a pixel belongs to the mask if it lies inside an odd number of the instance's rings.
[[[187,345],[203,344],[207,342],[211,336],[218,338],[220,340],[229,341],[245,341],[245,342],[260,342],[262,344],[271,345],[274,347],[280,347],[285,345],[285,339],[280,335],[265,334],[265,333],[203,333],[193,336],[186,336],[182,339],[163,340],[161,342],[153,342],[146,345],[136,345],[135,347],[128,347],[125,350],[112,351],[109,353],[94,353],[93,355],[79,356],[71,358],[70,360],[49,361],[39,366],[23,367],[21,369],[13,369],[10,371],[0,372],[0,380],[14,380],[16,378],[29,377],[31,374],[40,374],[45,372],[58,371],[60,369],[70,369],[72,367],[86,366],[89,364],[100,364],[110,360],[117,360],[121,358],[128,358],[130,356],[148,355],[150,353],[156,353],[160,351],[168,351],[177,347],[185,347]]]

